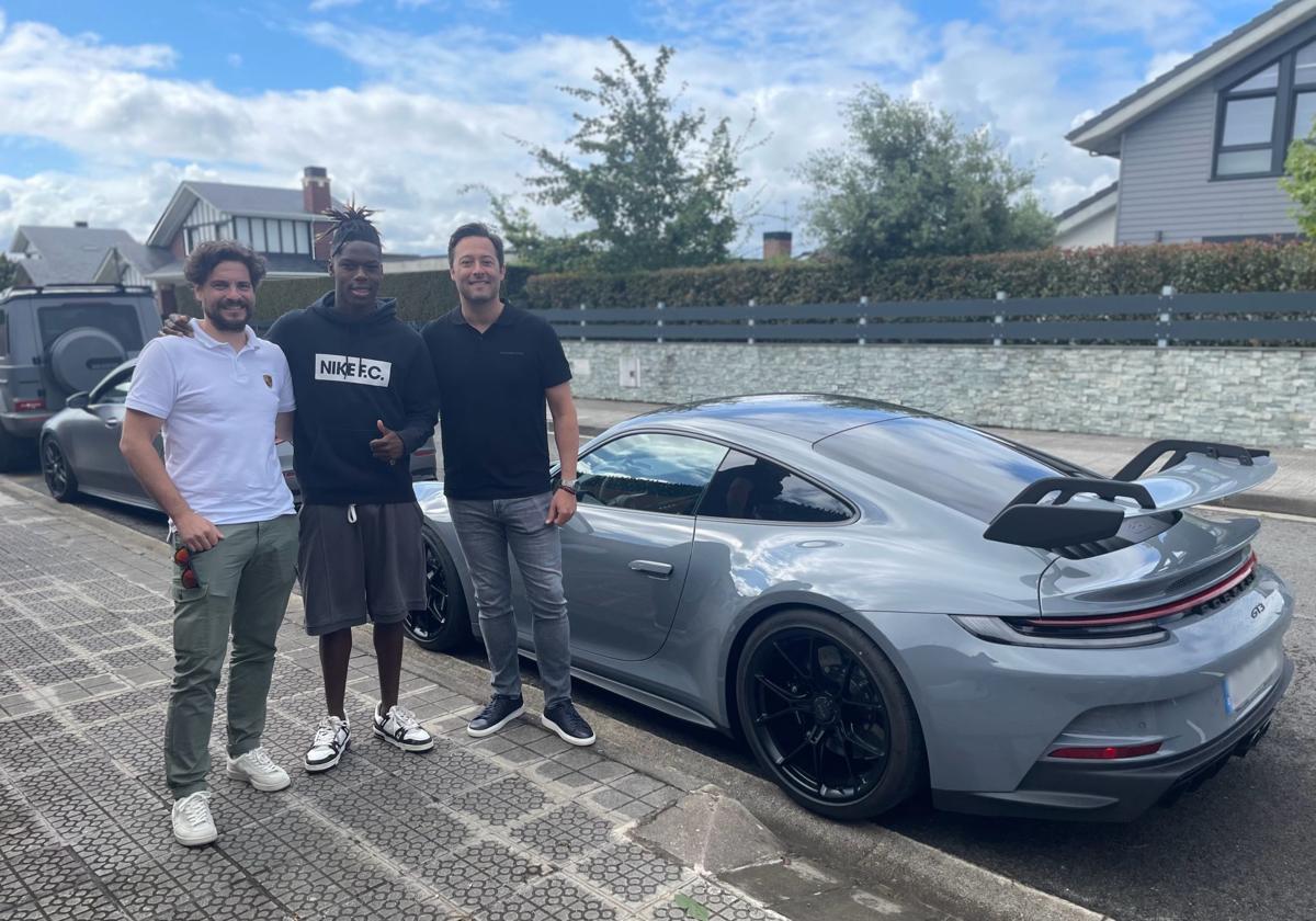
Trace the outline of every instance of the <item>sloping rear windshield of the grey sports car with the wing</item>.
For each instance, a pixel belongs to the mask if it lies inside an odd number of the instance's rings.
[[[984,522],[1029,483],[1071,472],[983,432],[919,416],[849,429],[813,447]]]

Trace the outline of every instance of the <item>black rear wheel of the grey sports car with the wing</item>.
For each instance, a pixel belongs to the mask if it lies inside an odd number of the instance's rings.
[[[808,809],[869,818],[923,780],[923,732],[909,693],[850,624],[820,610],[776,613],[754,628],[736,680],[750,747]]]

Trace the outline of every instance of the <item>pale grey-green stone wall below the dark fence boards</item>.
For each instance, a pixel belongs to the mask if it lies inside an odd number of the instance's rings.
[[[836,392],[975,425],[1316,449],[1316,350],[565,339],[580,397]],[[636,374],[632,375],[632,371]],[[622,383],[622,375],[633,386]]]

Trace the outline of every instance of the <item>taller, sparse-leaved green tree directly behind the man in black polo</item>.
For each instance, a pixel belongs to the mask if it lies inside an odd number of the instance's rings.
[[[737,164],[746,136],[733,136],[728,118],[708,128],[703,109],[676,111],[663,89],[672,49],[659,47],[649,67],[611,41],[621,55],[615,71],[596,70],[591,88],[562,87],[592,113],[575,113],[567,151],[530,147],[542,172],[526,180],[533,201],[565,207],[592,229],[545,234],[500,196],[495,217],[516,251],[547,271],[725,261],[738,226],[732,199],[749,183]]]

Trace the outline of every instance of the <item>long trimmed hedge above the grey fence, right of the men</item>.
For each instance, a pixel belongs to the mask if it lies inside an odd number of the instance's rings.
[[[620,275],[534,275],[526,300],[540,308],[828,304],[887,300],[1084,297],[1177,291],[1316,289],[1316,243],[1183,243],[1049,249],[976,257],[842,262],[732,263]]]

